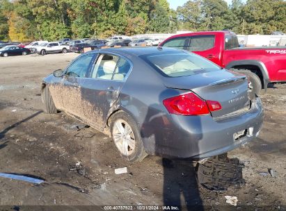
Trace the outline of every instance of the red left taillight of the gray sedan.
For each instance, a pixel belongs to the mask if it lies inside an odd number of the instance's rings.
[[[184,116],[208,115],[209,111],[221,110],[217,101],[204,101],[193,92],[173,96],[163,101],[170,114]]]

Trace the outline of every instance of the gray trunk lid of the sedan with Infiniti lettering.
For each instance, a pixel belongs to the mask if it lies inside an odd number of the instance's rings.
[[[249,106],[248,80],[232,71],[209,71],[202,74],[164,78],[169,88],[191,90],[204,100],[218,101],[221,110],[212,111],[212,117],[221,117]]]

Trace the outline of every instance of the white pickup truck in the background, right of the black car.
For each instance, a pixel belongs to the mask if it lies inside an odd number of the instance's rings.
[[[46,55],[47,53],[67,53],[70,50],[68,45],[61,45],[59,42],[42,43],[35,47],[35,52]]]

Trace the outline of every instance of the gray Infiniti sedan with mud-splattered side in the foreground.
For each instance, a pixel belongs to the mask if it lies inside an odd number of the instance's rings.
[[[44,78],[42,101],[113,137],[130,161],[228,152],[257,137],[264,116],[246,76],[161,47],[84,53]]]

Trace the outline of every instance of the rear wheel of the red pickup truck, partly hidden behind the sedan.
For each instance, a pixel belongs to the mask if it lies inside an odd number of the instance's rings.
[[[234,71],[248,76],[249,96],[251,96],[251,99],[255,98],[255,94],[257,96],[260,94],[262,90],[262,83],[256,74],[248,69],[235,69]]]

